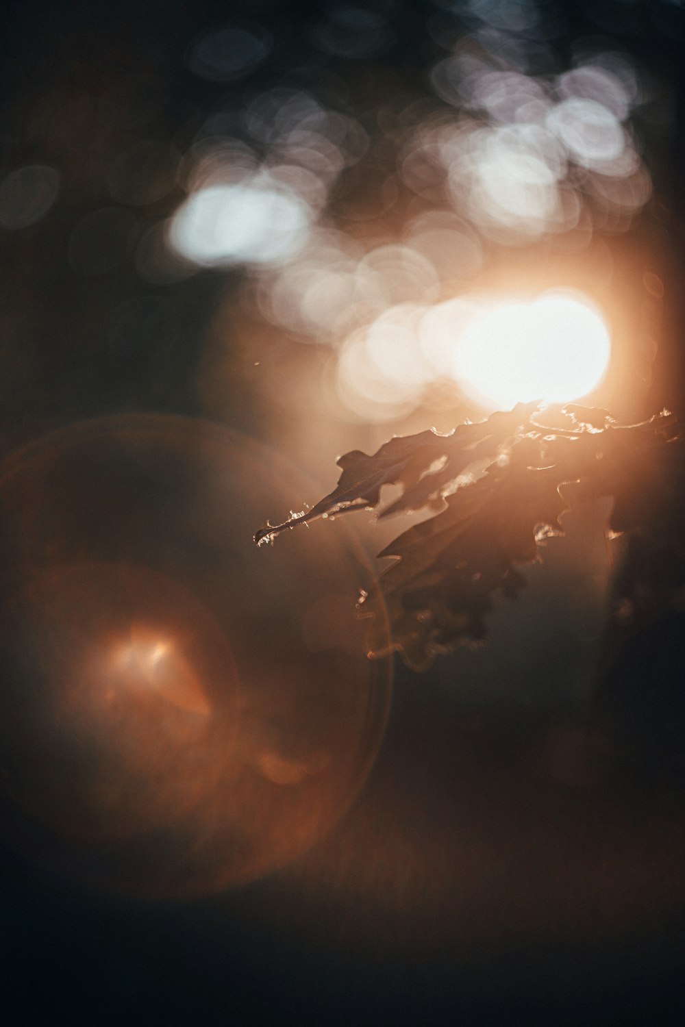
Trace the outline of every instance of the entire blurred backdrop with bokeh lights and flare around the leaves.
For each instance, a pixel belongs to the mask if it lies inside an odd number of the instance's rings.
[[[18,1022],[680,1022],[683,625],[606,629],[656,587],[606,503],[422,675],[354,614],[422,515],[252,535],[394,434],[682,409],[683,47],[679,0],[5,22]]]

